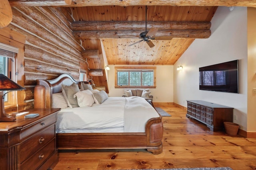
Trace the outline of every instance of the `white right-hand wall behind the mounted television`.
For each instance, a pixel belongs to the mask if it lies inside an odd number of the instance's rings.
[[[212,35],[196,39],[175,63],[174,102],[186,107],[185,100],[205,100],[234,107],[234,123],[247,130],[247,8],[218,7],[212,18]],[[239,59],[239,94],[199,90],[198,68]]]

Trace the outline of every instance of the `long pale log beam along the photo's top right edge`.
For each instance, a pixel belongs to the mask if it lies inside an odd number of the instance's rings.
[[[70,6],[250,6],[256,0],[72,0]]]

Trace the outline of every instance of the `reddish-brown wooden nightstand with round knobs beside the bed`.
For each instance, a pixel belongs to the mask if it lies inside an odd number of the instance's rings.
[[[51,169],[58,163],[55,123],[60,109],[24,111],[40,115],[0,122],[0,170]]]

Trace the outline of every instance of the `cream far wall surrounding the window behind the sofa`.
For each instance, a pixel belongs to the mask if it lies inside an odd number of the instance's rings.
[[[108,96],[110,97],[124,94],[124,88],[115,88],[115,66],[118,65],[109,65],[110,70],[108,70]],[[153,102],[173,102],[173,70],[172,65],[156,66],[156,88],[150,88],[154,96]]]

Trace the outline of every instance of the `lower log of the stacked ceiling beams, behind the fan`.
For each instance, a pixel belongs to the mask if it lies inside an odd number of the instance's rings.
[[[142,30],[112,30],[112,31],[74,31],[78,39],[102,39],[102,38],[128,38],[125,36],[139,37]],[[159,30],[156,36],[170,36],[172,38],[209,38],[210,29],[201,30]]]

